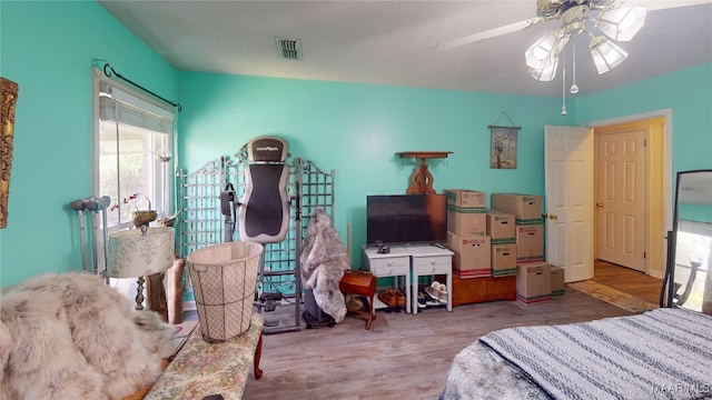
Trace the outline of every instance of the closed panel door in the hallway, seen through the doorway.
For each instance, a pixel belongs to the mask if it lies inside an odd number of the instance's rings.
[[[645,271],[645,129],[596,136],[596,257]]]

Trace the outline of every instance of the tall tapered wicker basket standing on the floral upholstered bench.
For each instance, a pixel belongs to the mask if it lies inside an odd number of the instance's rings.
[[[188,254],[186,261],[205,341],[227,341],[249,328],[263,250],[259,243],[227,242]]]

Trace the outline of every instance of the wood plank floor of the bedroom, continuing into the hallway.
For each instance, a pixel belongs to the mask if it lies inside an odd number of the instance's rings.
[[[650,299],[660,290],[640,272],[632,271],[635,279],[631,279],[630,271],[616,271],[620,267],[603,268],[599,271],[596,267],[596,280],[616,289]],[[437,399],[453,358],[482,334],[515,326],[629,314],[566,288],[564,296],[530,306],[505,300],[464,304],[453,312],[444,308],[421,309],[417,316],[377,311],[378,319],[368,331],[363,320],[347,317],[334,328],[266,334],[260,361],[263,378],[255,380],[250,376],[244,398]]]

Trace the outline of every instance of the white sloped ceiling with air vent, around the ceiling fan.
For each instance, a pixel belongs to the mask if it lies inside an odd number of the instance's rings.
[[[624,4],[663,2],[671,1]],[[578,96],[712,62],[711,2],[678,0],[681,7],[651,9],[637,36],[620,43],[629,59],[602,76],[587,54],[589,40],[578,37]],[[536,0],[99,3],[180,70],[535,96],[562,92],[561,70],[554,81],[537,82],[524,63],[524,51],[557,28],[558,20],[435,49],[439,42],[536,17]],[[280,59],[275,37],[301,39],[304,58]],[[571,52],[567,58],[571,80]]]

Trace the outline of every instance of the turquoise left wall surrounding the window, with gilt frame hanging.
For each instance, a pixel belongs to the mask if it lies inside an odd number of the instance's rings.
[[[92,59],[177,98],[175,69],[93,1],[0,2],[0,74],[17,82],[0,284],[80,270],[68,203],[92,193]]]

